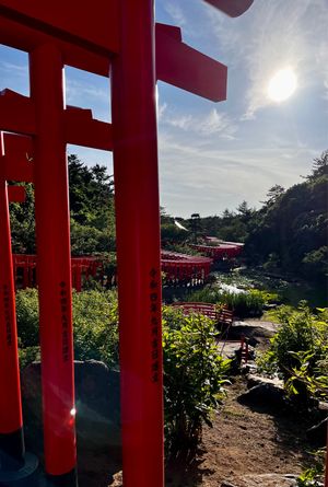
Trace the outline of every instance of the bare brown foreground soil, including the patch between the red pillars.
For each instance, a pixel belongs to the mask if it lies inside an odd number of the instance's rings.
[[[224,480],[246,487],[247,475],[300,474],[311,462],[307,425],[290,413],[238,404],[236,397],[245,389],[243,378],[229,386],[224,406],[213,418],[213,428],[203,429],[196,455],[180,454],[166,466],[166,487],[220,487]],[[121,468],[119,453],[94,452],[80,460],[80,487],[121,486],[121,475],[115,474]]]

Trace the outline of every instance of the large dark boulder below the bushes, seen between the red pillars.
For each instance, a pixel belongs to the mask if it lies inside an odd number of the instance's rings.
[[[78,445],[109,449],[120,445],[119,373],[95,360],[74,362]],[[25,440],[43,451],[40,363],[22,371]]]

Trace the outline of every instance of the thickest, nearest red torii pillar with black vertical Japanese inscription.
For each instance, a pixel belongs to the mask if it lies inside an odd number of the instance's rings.
[[[164,485],[153,3],[120,2],[112,65],[122,471],[124,485],[142,487]]]

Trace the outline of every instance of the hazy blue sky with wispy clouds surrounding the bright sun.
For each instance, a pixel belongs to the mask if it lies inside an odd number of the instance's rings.
[[[230,19],[201,0],[157,0],[156,19],[179,25],[186,43],[229,67],[219,104],[159,83],[161,205],[173,216],[220,214],[246,199],[259,207],[274,184],[301,182],[328,149],[328,5],[326,0],[255,0]],[[267,95],[290,67],[293,96]],[[110,120],[109,81],[66,70],[67,103]],[[27,57],[0,49],[0,88],[28,93]],[[112,155],[69,147],[87,164],[112,169]]]

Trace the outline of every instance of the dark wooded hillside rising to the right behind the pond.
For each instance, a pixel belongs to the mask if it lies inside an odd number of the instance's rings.
[[[328,275],[328,151],[314,160],[311,175],[289,189],[272,186],[259,210],[242,201],[236,211],[181,221],[185,241],[203,235],[245,242],[243,258],[271,274],[290,274],[311,280]],[[168,225],[167,216],[162,218]],[[171,222],[172,224],[172,222]],[[176,232],[176,229],[175,229]]]

